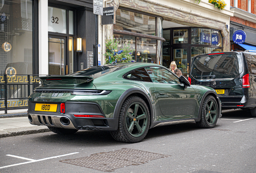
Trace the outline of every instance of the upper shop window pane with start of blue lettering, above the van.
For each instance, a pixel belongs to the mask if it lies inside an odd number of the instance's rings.
[[[191,44],[211,45],[211,29],[191,28]]]

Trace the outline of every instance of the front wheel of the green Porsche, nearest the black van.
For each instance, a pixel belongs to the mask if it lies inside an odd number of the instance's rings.
[[[196,124],[202,128],[213,128],[217,123],[218,113],[217,101],[213,96],[209,95],[204,99],[201,120]]]

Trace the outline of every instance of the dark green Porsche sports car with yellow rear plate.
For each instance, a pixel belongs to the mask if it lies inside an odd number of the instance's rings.
[[[149,129],[196,122],[213,128],[221,103],[210,87],[151,63],[94,66],[66,76],[42,76],[29,97],[28,119],[58,134],[110,131],[117,141],[142,141]]]

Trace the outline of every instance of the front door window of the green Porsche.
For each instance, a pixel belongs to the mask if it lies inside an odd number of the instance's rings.
[[[172,72],[161,67],[146,67],[151,80],[155,83],[180,84],[179,78]]]

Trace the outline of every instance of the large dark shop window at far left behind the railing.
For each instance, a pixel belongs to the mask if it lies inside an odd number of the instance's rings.
[[[0,14],[1,74],[8,67],[16,74],[32,74],[32,0],[1,0]]]

